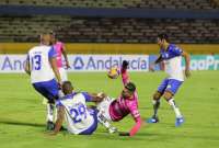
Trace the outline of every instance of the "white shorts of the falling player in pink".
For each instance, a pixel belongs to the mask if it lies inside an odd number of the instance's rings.
[[[110,105],[113,102],[113,99],[105,98],[102,102],[100,102],[96,106],[97,110],[101,112],[102,115],[108,121],[112,122],[111,115],[110,115]]]

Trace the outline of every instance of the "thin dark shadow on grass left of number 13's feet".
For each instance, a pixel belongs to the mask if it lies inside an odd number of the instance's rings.
[[[19,121],[1,121],[0,119],[0,124],[18,125],[18,126],[32,126],[32,127],[45,127],[45,124],[25,123],[25,122],[19,122]]]

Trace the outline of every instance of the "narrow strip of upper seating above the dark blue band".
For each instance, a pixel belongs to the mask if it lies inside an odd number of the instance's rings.
[[[73,8],[218,9],[217,0],[1,0],[0,4]]]

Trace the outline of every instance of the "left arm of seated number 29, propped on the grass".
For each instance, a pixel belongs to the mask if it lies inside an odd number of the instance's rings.
[[[57,135],[61,128],[61,125],[65,119],[65,107],[64,106],[58,106],[58,115],[57,115],[57,121],[55,125],[55,129],[51,133],[51,135]]]

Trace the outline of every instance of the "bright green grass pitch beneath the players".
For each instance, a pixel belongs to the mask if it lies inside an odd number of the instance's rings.
[[[110,135],[100,125],[92,136],[66,132],[51,137],[45,130],[45,105],[26,75],[0,75],[0,148],[218,148],[219,147],[219,71],[194,71],[175,95],[185,116],[182,127],[174,127],[175,115],[162,99],[160,123],[147,124],[132,138]],[[139,109],[145,119],[152,114],[151,95],[165,77],[163,72],[132,72]],[[118,96],[122,80],[106,73],[69,73],[76,90]],[[127,132],[131,116],[114,124]]]

